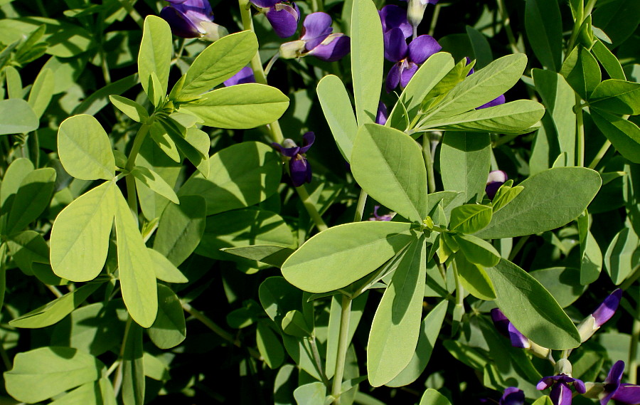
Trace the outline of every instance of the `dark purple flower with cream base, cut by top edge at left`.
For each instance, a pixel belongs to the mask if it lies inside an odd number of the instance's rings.
[[[182,38],[202,38],[218,41],[228,31],[213,22],[213,11],[208,0],[166,0],[171,3],[160,11],[169,23],[171,32]]]

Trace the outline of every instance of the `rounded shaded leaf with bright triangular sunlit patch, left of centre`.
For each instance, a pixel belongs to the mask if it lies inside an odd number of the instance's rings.
[[[203,196],[207,215],[213,215],[264,201],[277,191],[281,177],[282,161],[272,147],[242,142],[210,157],[208,177],[194,174],[178,196]]]

